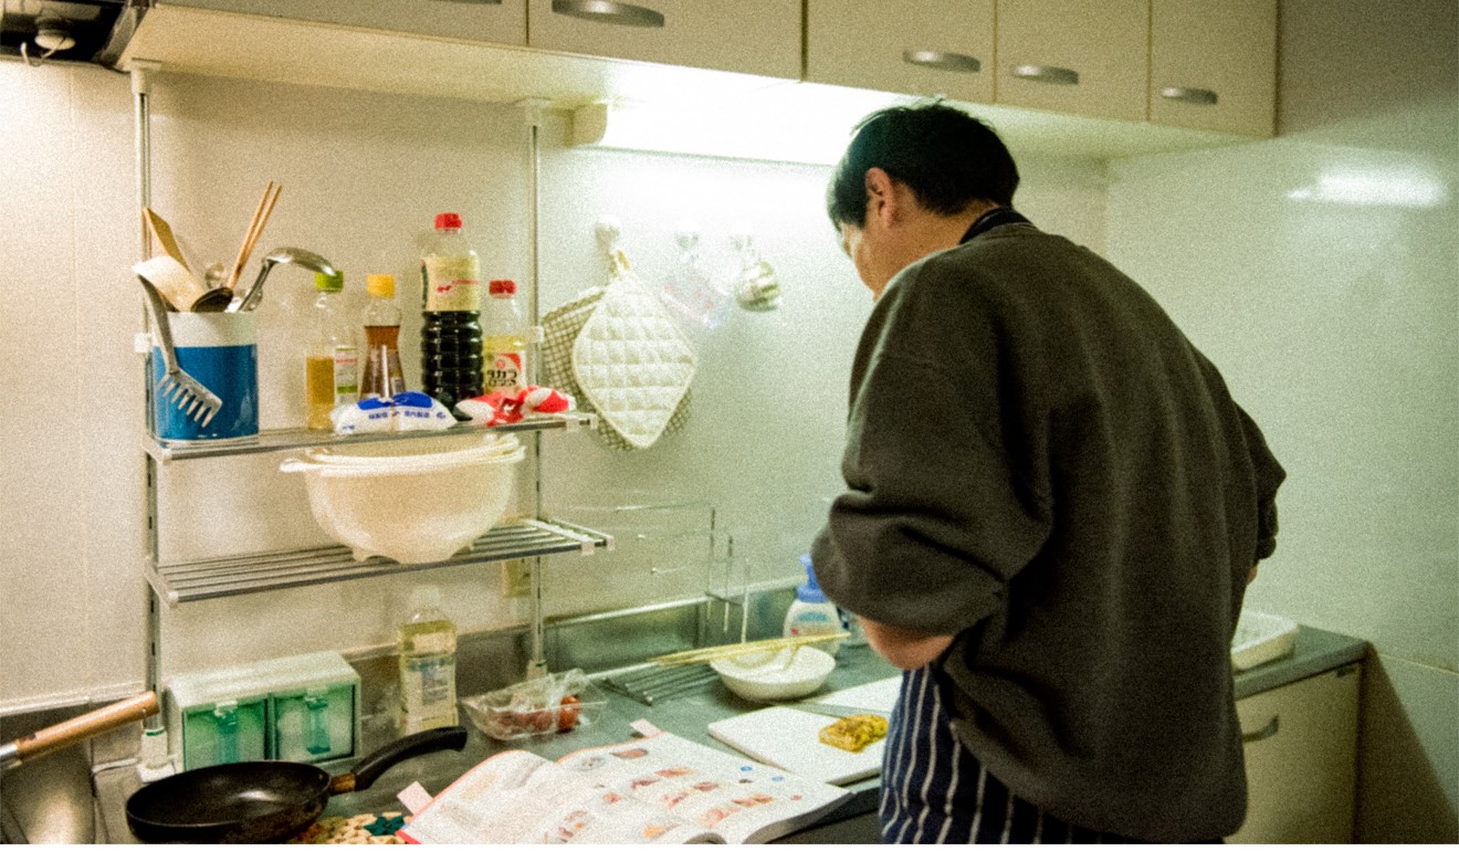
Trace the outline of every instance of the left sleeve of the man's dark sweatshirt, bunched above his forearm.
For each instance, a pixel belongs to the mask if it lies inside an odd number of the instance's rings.
[[[843,609],[951,635],[1004,604],[1008,579],[1048,537],[1048,507],[1024,482],[1017,448],[1004,445],[1007,394],[992,328],[893,312],[881,339],[862,340],[842,460],[846,490],[813,559]],[[951,339],[951,350],[934,359],[894,343],[909,339]]]

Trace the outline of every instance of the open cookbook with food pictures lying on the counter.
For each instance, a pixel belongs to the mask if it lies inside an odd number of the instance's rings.
[[[416,813],[414,844],[767,842],[851,797],[843,788],[671,733],[552,762],[508,750]]]

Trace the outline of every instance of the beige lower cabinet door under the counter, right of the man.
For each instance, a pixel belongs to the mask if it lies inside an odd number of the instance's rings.
[[[1246,823],[1230,842],[1351,842],[1358,683],[1350,664],[1236,702]]]

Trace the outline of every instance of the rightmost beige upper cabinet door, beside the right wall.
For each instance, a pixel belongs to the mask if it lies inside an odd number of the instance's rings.
[[[1150,120],[1266,137],[1277,117],[1277,0],[1153,0]]]

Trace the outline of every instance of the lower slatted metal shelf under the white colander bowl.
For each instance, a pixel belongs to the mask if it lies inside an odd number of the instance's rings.
[[[403,565],[381,556],[359,562],[355,561],[349,547],[322,546],[171,565],[158,565],[149,559],[146,575],[158,596],[169,606],[177,606],[194,600],[427,571],[451,565],[530,559],[570,552],[592,555],[600,549],[611,550],[613,547],[614,539],[610,534],[563,520],[528,518],[493,527],[476,539],[471,549],[442,562]]]

